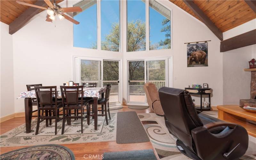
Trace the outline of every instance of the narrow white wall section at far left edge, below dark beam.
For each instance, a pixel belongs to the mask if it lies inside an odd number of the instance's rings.
[[[0,117],[14,113],[13,52],[9,26],[1,23],[1,85]]]

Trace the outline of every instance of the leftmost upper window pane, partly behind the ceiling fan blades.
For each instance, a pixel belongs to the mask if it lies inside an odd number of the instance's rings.
[[[74,19],[80,24],[74,24],[74,47],[97,49],[97,1],[81,1],[74,6],[82,8],[83,12],[74,12]]]

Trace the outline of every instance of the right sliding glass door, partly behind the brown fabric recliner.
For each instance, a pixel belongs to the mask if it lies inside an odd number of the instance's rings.
[[[128,60],[128,104],[146,104],[143,85],[154,83],[157,90],[168,86],[168,58]]]

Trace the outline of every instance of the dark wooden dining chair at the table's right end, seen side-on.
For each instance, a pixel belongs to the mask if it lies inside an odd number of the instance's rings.
[[[98,111],[101,111],[101,114],[98,114],[98,116],[105,116],[107,125],[108,125],[108,116],[109,116],[109,119],[111,119],[110,112],[109,112],[110,89],[111,89],[111,84],[107,84],[105,97],[102,97],[98,100],[98,105],[101,105],[101,109],[98,109]],[[93,108],[93,101],[89,101],[89,110],[91,109],[90,108],[91,105]],[[105,114],[104,114],[104,112],[105,112]],[[108,114],[107,114],[107,112],[108,112]],[[89,116],[93,116],[93,113],[94,113],[94,111],[92,110],[92,114],[90,114]]]

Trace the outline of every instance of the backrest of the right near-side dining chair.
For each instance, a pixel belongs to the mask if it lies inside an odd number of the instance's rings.
[[[83,105],[83,100],[79,97],[84,97],[83,86],[60,86],[63,106]]]

